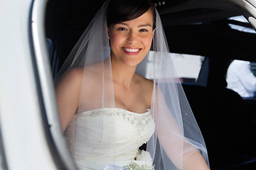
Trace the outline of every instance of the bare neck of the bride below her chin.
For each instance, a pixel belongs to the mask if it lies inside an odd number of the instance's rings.
[[[113,82],[129,89],[137,66],[127,66],[111,58]]]

